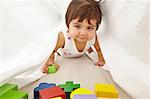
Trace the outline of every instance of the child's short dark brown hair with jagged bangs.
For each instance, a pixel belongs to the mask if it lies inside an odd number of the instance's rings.
[[[79,18],[78,22],[82,22],[84,19],[87,19],[89,24],[91,19],[96,19],[96,29],[98,29],[102,19],[99,2],[95,0],[72,0],[68,6],[65,16],[67,27],[69,28],[69,23],[76,18]]]

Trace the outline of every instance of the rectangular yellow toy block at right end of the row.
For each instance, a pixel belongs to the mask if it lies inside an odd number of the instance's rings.
[[[95,93],[97,97],[118,98],[118,92],[113,84],[96,84]]]

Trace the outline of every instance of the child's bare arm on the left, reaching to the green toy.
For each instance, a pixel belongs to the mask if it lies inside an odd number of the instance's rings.
[[[55,64],[57,67],[59,67],[59,65],[54,62],[55,52],[57,52],[57,50],[59,48],[63,48],[64,44],[65,44],[65,39],[64,39],[63,33],[60,32],[59,35],[58,35],[58,39],[57,39],[57,43],[56,43],[55,49],[53,50],[52,54],[49,56],[47,62],[44,64],[44,66],[42,68],[42,72],[43,73],[47,73],[48,66],[50,66],[52,64]]]

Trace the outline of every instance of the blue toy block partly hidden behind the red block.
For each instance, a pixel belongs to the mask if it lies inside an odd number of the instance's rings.
[[[55,83],[40,83],[38,87],[34,88],[34,99],[39,99],[39,91],[45,88],[51,88],[56,86]]]

